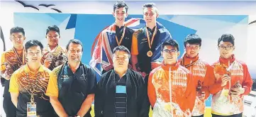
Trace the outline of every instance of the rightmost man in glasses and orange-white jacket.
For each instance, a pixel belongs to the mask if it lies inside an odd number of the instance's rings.
[[[252,89],[252,78],[245,62],[235,59],[233,35],[221,35],[218,50],[220,57],[213,64],[215,78],[205,82],[213,94],[211,114],[213,117],[242,117],[244,96]]]

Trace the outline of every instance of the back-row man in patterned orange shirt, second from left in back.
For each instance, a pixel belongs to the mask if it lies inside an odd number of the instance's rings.
[[[57,26],[49,26],[46,29],[46,38],[48,46],[43,48],[42,64],[50,70],[67,62],[65,49],[59,45],[60,28]]]

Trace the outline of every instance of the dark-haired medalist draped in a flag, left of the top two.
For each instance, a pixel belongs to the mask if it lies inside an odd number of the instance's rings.
[[[124,45],[130,51],[134,31],[125,25],[125,19],[128,16],[127,11],[128,6],[124,1],[117,1],[116,4],[113,5],[113,17],[115,18],[115,23],[108,26],[108,28],[103,30],[99,35],[99,38],[104,39],[106,43],[109,43],[109,45],[106,44],[106,46],[110,46],[109,48],[111,52],[105,51],[106,55],[111,56],[113,48],[116,48],[118,45]],[[112,60],[102,61],[104,61],[101,63],[103,68],[102,74],[107,72],[109,69],[113,69]]]

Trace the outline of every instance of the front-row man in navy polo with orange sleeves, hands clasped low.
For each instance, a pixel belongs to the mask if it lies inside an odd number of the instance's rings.
[[[50,103],[61,117],[91,117],[96,75],[81,62],[82,48],[80,40],[69,40],[66,47],[68,61],[50,74],[46,95],[50,96]]]

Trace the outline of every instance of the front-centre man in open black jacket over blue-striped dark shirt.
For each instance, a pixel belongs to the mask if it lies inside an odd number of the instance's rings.
[[[113,49],[113,69],[101,76],[95,94],[95,117],[148,117],[147,87],[143,77],[128,69],[130,51]]]

